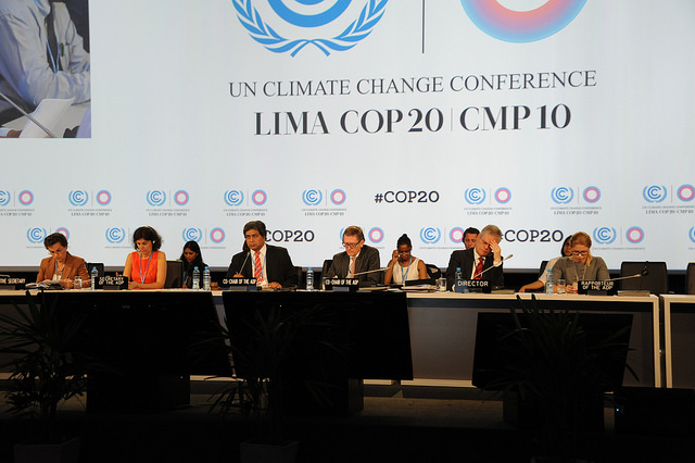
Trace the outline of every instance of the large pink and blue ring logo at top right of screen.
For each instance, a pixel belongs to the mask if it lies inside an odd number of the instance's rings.
[[[547,38],[571,23],[586,0],[547,0],[529,11],[509,10],[500,0],[460,0],[476,26],[500,40],[516,43]]]

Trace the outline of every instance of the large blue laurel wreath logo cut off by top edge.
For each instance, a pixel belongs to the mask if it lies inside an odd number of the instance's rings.
[[[301,3],[315,4],[318,1],[316,0],[311,2],[304,0]],[[253,7],[253,0],[232,0],[239,22],[241,22],[241,25],[249,32],[252,39],[275,53],[290,52],[292,57],[295,57],[296,53],[307,45],[313,45],[318,48],[327,57],[330,54],[331,50],[350,50],[357,45],[358,41],[371,34],[371,30],[379,23],[381,16],[383,16],[388,2],[389,0],[369,0],[369,2],[362,9],[359,17],[353,21],[339,35],[331,38],[309,39],[282,37],[265,21],[263,21],[258,11]],[[282,17],[282,20],[292,25],[301,27],[316,27],[327,24],[340,16],[340,14],[342,14],[350,4],[350,1],[340,0],[328,11],[314,16],[294,13],[285,7],[280,0],[270,0],[268,3],[273,10]]]

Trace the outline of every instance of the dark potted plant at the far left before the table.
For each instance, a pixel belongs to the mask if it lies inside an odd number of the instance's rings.
[[[65,440],[56,428],[59,404],[85,390],[88,358],[77,349],[85,314],[59,311],[59,297],[43,291],[13,302],[14,312],[0,314],[0,353],[11,358],[7,390],[10,411],[29,415],[37,425],[33,438],[14,448],[15,462],[58,461],[38,456],[58,453],[77,461],[79,439]]]

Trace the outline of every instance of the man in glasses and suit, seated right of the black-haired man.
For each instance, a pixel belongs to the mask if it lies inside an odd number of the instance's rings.
[[[379,251],[365,245],[365,235],[362,228],[349,226],[343,232],[343,247],[345,250],[333,255],[327,278],[357,278],[359,286],[375,286],[381,283],[383,275],[378,271],[381,268]]]

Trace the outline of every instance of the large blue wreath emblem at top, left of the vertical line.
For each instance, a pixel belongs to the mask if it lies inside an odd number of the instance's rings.
[[[232,0],[237,16],[251,38],[275,53],[289,52],[292,57],[307,45],[318,48],[327,57],[331,51],[350,50],[376,27],[388,2],[389,0]],[[361,3],[364,7],[358,14],[356,7],[350,8]],[[336,28],[337,20],[343,20],[342,16],[353,13],[355,17],[350,18],[350,25]]]

